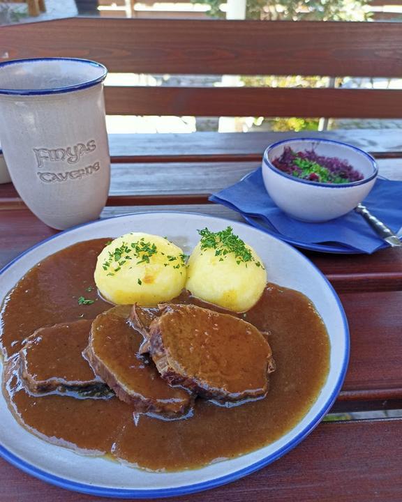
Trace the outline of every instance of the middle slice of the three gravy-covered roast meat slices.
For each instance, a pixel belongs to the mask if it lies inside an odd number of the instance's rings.
[[[142,335],[131,327],[131,305],[118,305],[92,323],[84,355],[117,397],[138,413],[175,418],[191,409],[193,395],[161,379],[154,363],[139,353]]]

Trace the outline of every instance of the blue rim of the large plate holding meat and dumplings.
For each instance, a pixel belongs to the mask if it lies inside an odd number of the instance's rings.
[[[94,220],[92,222],[84,223],[82,225],[76,225],[75,227],[71,227],[70,229],[64,230],[59,232],[59,234],[55,234],[54,236],[50,236],[44,241],[40,241],[40,243],[37,243],[36,245],[32,246],[28,250],[22,252],[19,254],[15,259],[10,261],[6,266],[1,268],[0,270],[0,277],[1,275],[8,269],[10,266],[15,264],[17,261],[19,261],[22,257],[24,257],[25,254],[28,254],[29,252],[35,250],[36,248],[39,248],[41,245],[44,245],[45,243],[52,241],[54,238],[57,238],[60,235],[68,234],[70,231],[73,231],[75,229],[79,229],[82,227],[87,227],[89,225],[97,225],[100,224],[101,222],[105,220],[112,220],[115,218],[125,218],[127,216],[141,216],[141,215],[149,215],[149,214],[155,214],[155,215],[170,215],[170,214],[181,214],[181,215],[192,215],[192,216],[202,216],[203,218],[211,218],[211,219],[218,219],[218,220],[224,220],[224,218],[219,218],[211,215],[204,215],[202,213],[188,213],[188,212],[181,212],[181,211],[144,211],[142,213],[128,213],[126,215],[117,215],[117,216],[112,216],[111,218],[104,218],[103,220]],[[248,227],[245,223],[237,222],[238,225],[244,225],[245,227]],[[281,241],[282,239],[273,236],[274,238],[278,239],[278,241]],[[298,250],[295,250],[295,248],[292,248],[294,252],[297,252],[298,254],[301,255],[304,259],[307,261],[310,261],[308,258],[304,256],[301,252]],[[304,429],[297,434],[297,436],[292,439],[289,443],[285,444],[282,448],[280,448],[278,451],[272,453],[271,455],[268,455],[267,457],[259,460],[258,462],[255,462],[254,464],[251,464],[250,466],[244,467],[244,469],[239,469],[239,471],[236,471],[234,473],[227,474],[225,476],[221,476],[219,478],[215,478],[213,480],[209,481],[204,481],[200,483],[196,483],[194,485],[186,485],[184,487],[174,487],[174,488],[163,488],[163,489],[124,489],[124,488],[107,488],[107,487],[102,487],[102,486],[94,486],[94,485],[85,485],[84,483],[80,482],[75,482],[72,480],[68,480],[66,478],[61,478],[59,476],[54,476],[54,474],[48,473],[46,471],[43,471],[42,469],[38,469],[36,466],[29,464],[29,462],[26,462],[25,460],[21,459],[20,457],[17,457],[17,455],[14,455],[12,452],[8,451],[6,448],[4,448],[2,445],[0,445],[0,457],[3,457],[3,459],[7,460],[10,462],[10,464],[13,464],[15,467],[20,469],[21,471],[24,471],[25,473],[30,474],[31,476],[34,476],[34,478],[38,478],[42,481],[50,483],[50,485],[55,485],[57,487],[61,487],[64,489],[69,489],[73,492],[80,492],[84,494],[89,494],[89,495],[96,495],[96,496],[104,496],[104,497],[115,497],[117,499],[126,499],[126,498],[131,498],[131,499],[156,499],[158,497],[164,498],[168,496],[179,496],[179,495],[185,495],[185,494],[193,494],[196,492],[202,492],[207,489],[212,489],[219,487],[221,485],[226,485],[230,482],[233,482],[235,480],[238,480],[239,478],[244,478],[244,476],[248,476],[248,474],[251,474],[255,471],[258,471],[259,469],[262,469],[263,467],[271,464],[272,462],[276,461],[285,453],[289,452],[295,446],[297,446],[303,439],[308,436],[311,432],[313,432],[313,429],[317,427],[317,425],[320,423],[322,418],[324,418],[325,414],[329,411],[329,409],[332,407],[332,404],[334,404],[336,397],[341,390],[341,386],[343,384],[343,381],[345,379],[345,374],[346,370],[348,369],[348,362],[349,362],[349,354],[350,354],[350,336],[349,336],[349,326],[348,326],[348,320],[346,319],[345,311],[343,310],[343,305],[336,294],[336,291],[332,287],[332,284],[327,280],[327,277],[320,271],[320,269],[315,266],[313,263],[311,263],[311,266],[315,268],[315,270],[321,275],[322,279],[325,280],[327,287],[329,287],[329,290],[331,291],[332,295],[335,298],[335,301],[338,305],[339,311],[341,312],[341,317],[343,321],[343,330],[345,333],[345,353],[343,354],[343,362],[342,362],[342,367],[341,367],[341,372],[338,377],[338,381],[336,381],[336,384],[334,386],[334,389],[332,390],[332,393],[329,395],[327,401],[325,404],[322,405],[320,411],[315,415],[313,420],[311,420],[310,423],[304,427]],[[1,298],[1,301],[3,299]]]

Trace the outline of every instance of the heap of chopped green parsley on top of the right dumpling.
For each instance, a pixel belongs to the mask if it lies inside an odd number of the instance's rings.
[[[227,227],[225,230],[218,232],[212,232],[204,228],[198,230],[198,234],[201,236],[201,250],[215,250],[215,256],[219,257],[219,261],[223,261],[228,254],[234,254],[237,265],[244,263],[247,266],[249,262],[253,261],[255,266],[262,267],[260,261],[255,261],[251,250],[246,247],[244,241],[241,241],[239,236],[233,234],[232,227]]]

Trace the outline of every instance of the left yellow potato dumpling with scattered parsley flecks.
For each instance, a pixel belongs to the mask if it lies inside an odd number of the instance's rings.
[[[114,239],[98,256],[95,282],[118,305],[157,305],[179,295],[186,283],[183,251],[167,239],[132,232]]]

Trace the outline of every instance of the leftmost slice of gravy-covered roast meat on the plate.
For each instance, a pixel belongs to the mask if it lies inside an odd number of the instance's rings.
[[[87,319],[36,330],[19,354],[20,376],[34,395],[72,393],[75,397],[112,396],[82,357],[91,322]]]

